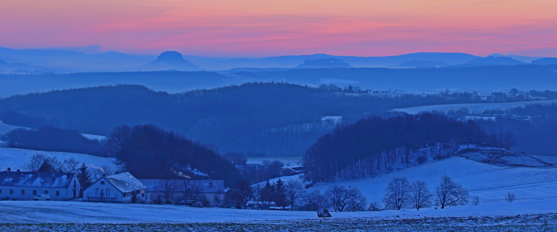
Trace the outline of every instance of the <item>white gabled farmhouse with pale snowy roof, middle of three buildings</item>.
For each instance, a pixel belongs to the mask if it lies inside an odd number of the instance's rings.
[[[145,185],[130,172],[102,176],[83,191],[83,201],[145,203]]]

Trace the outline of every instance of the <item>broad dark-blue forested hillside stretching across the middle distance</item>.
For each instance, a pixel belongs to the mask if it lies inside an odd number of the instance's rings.
[[[169,94],[138,85],[102,86],[2,98],[0,111],[11,112],[0,115],[14,120],[14,113],[22,113],[17,124],[95,135],[108,135],[119,125],[154,124],[222,152],[300,155],[334,129],[322,116],[355,122],[393,108],[485,102],[471,93],[385,97],[356,90],[259,82]]]

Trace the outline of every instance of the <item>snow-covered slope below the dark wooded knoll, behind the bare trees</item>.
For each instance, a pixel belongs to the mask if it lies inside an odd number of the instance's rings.
[[[333,184],[358,187],[365,198],[367,198],[368,203],[374,201],[381,203],[385,187],[394,177],[407,177],[408,181],[425,181],[428,184],[429,190],[433,192],[443,175],[448,175],[453,181],[462,184],[463,187],[471,191],[471,195],[490,196],[490,198],[498,196],[499,199],[504,199],[504,196],[500,194],[502,190],[496,188],[517,186],[515,188],[520,189],[519,185],[557,181],[557,168],[499,167],[454,156],[436,162],[396,170],[377,178],[363,177],[352,180],[317,183],[310,187],[309,190],[325,192]],[[482,191],[476,193],[475,190]],[[535,194],[544,196],[548,192],[534,190],[531,191],[530,197],[535,197]],[[557,195],[557,192],[553,195]],[[517,198],[520,197],[520,195],[517,195]]]

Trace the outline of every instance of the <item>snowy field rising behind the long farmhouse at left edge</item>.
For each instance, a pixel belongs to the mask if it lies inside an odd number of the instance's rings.
[[[17,148],[0,148],[0,170],[11,167],[12,170],[21,169],[27,171],[27,164],[35,154],[42,154],[48,157],[56,157],[58,161],[74,158],[80,164],[82,162],[89,167],[109,167],[111,171],[118,170],[114,158],[92,156],[87,154],[57,152],[57,151],[36,151]]]

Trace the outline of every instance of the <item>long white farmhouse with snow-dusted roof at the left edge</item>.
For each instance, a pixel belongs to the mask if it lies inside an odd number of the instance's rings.
[[[79,197],[79,181],[75,173],[0,171],[0,198],[33,200],[37,194],[48,194],[50,200],[65,201]]]

